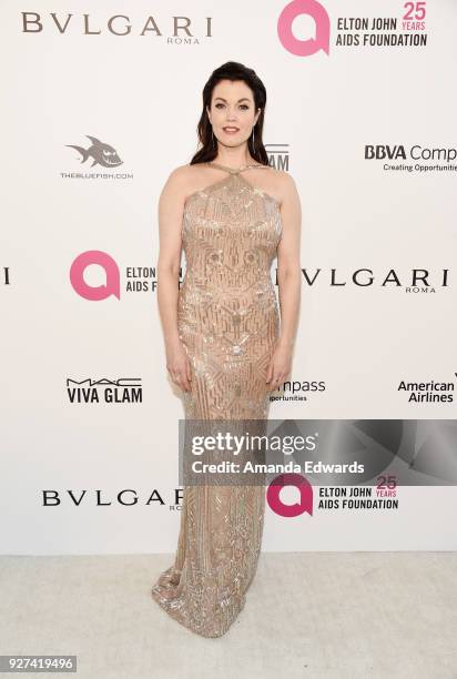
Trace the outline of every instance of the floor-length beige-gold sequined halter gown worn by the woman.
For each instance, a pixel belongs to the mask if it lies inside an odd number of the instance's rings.
[[[189,196],[182,225],[177,323],[192,371],[185,418],[266,420],[266,369],[280,331],[270,274],[280,205],[245,179],[252,165],[210,165],[222,179]],[[197,635],[224,635],[256,571],[264,511],[262,485],[184,486],[177,551],[152,588],[155,601]]]

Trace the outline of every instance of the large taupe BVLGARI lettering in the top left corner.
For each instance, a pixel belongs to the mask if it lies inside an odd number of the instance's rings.
[[[192,20],[189,17],[167,17],[158,22],[154,17],[148,16],[135,20],[132,26],[126,14],[113,14],[103,22],[99,18],[93,19],[90,14],[71,14],[50,12],[21,12],[23,33],[42,33],[44,30],[54,30],[59,33],[82,33],[83,36],[100,36],[111,33],[112,36],[129,36],[132,32],[138,36],[166,37],[174,43],[194,43],[200,38],[212,38],[212,17],[202,17],[197,21],[197,34],[195,34]],[[192,24],[192,26],[191,26]],[[193,32],[192,32],[193,31]]]

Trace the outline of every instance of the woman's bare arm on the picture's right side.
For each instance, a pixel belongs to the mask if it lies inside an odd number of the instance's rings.
[[[270,383],[272,389],[277,388],[286,379],[292,368],[302,285],[299,265],[302,206],[295,182],[287,173],[284,173],[282,196],[283,232],[277,247],[281,332],[266,376],[266,382]]]

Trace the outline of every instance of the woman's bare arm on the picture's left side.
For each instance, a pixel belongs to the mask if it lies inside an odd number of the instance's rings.
[[[159,199],[158,304],[163,328],[166,368],[175,384],[190,391],[191,368],[177,330],[181,230],[186,192],[185,168],[174,170]]]

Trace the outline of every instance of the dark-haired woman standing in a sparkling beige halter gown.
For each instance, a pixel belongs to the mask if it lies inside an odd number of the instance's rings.
[[[262,142],[266,91],[236,62],[203,90],[202,148],[159,202],[158,301],[166,367],[186,420],[268,415],[290,375],[299,308],[301,205]],[[179,290],[181,249],[186,272]],[[280,313],[270,268],[277,256]],[[152,588],[175,620],[224,635],[245,602],[263,534],[265,488],[185,486],[174,565]]]

